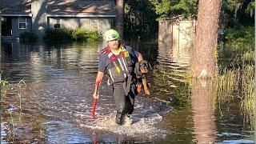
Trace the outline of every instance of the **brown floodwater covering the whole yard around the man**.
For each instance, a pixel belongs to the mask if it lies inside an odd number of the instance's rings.
[[[150,61],[150,93],[136,97],[131,125],[114,124],[106,79],[91,118],[101,42],[2,44],[1,143],[255,143],[238,102],[216,102],[212,82],[189,87],[190,50],[126,42]],[[128,122],[128,121],[127,121]]]

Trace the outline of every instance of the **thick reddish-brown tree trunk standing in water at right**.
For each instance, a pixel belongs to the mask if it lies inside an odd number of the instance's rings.
[[[215,50],[218,42],[218,19],[221,0],[199,0],[198,23],[190,74],[196,78],[210,78],[218,73]]]

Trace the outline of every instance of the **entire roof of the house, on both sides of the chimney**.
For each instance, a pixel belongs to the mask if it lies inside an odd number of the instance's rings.
[[[2,16],[32,16],[31,0],[1,0]],[[114,1],[46,0],[49,17],[115,17]]]

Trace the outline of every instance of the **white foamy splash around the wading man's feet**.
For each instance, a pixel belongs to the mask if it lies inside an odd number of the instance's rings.
[[[166,130],[161,130],[154,126],[162,122],[162,116],[159,114],[150,114],[147,118],[126,117],[124,125],[120,126],[114,122],[116,111],[106,115],[104,118],[98,118],[93,125],[81,124],[80,126],[94,129],[106,130],[115,134],[126,134],[128,136],[146,135],[148,138],[166,134]]]

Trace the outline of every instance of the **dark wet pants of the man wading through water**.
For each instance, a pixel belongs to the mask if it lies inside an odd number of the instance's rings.
[[[130,86],[130,92],[126,96],[122,83],[113,86],[114,102],[117,106],[116,122],[122,124],[125,114],[132,114],[134,111],[134,85]]]

